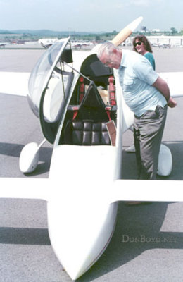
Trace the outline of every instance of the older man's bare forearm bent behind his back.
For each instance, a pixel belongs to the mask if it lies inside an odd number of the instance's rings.
[[[152,86],[156,87],[156,89],[158,89],[160,93],[163,94],[170,108],[174,108],[177,105],[177,102],[175,102],[175,100],[170,96],[170,89],[167,82],[165,82],[163,78],[160,78],[160,76],[158,76],[156,82],[154,82]]]

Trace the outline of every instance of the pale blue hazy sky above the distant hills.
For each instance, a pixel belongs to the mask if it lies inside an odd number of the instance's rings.
[[[0,0],[0,30],[113,32],[143,16],[147,29],[183,29],[182,0]]]

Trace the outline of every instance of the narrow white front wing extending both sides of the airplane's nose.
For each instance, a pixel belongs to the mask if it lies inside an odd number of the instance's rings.
[[[67,183],[63,185],[67,190]],[[0,198],[39,199],[54,203],[61,197],[60,187],[56,188],[53,178],[30,178],[29,180],[27,178],[13,178],[13,180],[12,178],[1,178],[1,187],[5,189],[1,189]],[[54,187],[54,193],[51,187]],[[83,186],[84,190],[85,188]],[[75,185],[73,185],[73,190],[75,190]],[[78,191],[75,196],[75,201],[80,200],[83,195],[82,189],[80,190],[81,192]],[[154,181],[151,180],[118,179],[112,183],[109,181],[106,195],[100,190],[97,195],[101,203],[118,201],[183,202],[181,180],[173,181],[173,183],[167,180],[163,185],[161,180],[156,180],[156,185],[154,185]]]

